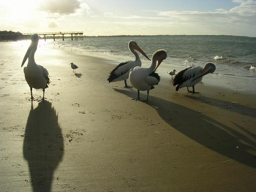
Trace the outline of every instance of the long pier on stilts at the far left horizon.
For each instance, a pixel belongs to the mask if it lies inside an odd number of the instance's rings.
[[[21,35],[10,35],[10,34],[1,34],[0,41],[17,41],[18,39],[22,39],[26,36],[31,36],[33,34],[44,35],[44,41],[46,41],[46,35],[53,35],[53,40],[55,41],[55,35],[62,35],[62,41],[64,41],[64,35],[71,35],[71,40],[83,40],[84,32],[38,32],[38,33],[22,33]]]

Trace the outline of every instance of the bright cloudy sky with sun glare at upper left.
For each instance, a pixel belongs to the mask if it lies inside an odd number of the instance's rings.
[[[0,31],[256,37],[256,0],[0,0]]]

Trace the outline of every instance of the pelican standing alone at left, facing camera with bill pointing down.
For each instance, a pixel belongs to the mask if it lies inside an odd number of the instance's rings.
[[[27,58],[29,58],[27,67],[24,67],[24,74],[25,74],[25,79],[30,87],[31,100],[34,99],[32,96],[32,88],[43,89],[43,93],[44,93],[44,89],[46,89],[48,87],[48,84],[50,83],[47,69],[35,63],[34,56],[38,46],[38,41],[39,41],[39,37],[37,34],[34,34],[31,36],[31,44],[21,64],[21,67],[22,67],[23,64],[26,62]],[[44,100],[44,94],[41,100]]]

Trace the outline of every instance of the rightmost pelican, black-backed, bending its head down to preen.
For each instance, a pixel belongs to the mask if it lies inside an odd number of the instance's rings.
[[[206,63],[204,67],[198,66],[186,68],[177,73],[173,78],[173,86],[177,85],[176,91],[182,87],[187,87],[188,92],[198,93],[195,92],[195,84],[198,84],[206,74],[213,73],[215,69],[215,64],[210,62]],[[193,91],[189,91],[188,87],[192,87]]]

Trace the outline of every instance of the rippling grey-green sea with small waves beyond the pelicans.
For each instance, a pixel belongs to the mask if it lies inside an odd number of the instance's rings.
[[[234,91],[256,93],[256,38],[227,35],[160,35],[160,36],[107,36],[71,39],[40,40],[46,46],[70,49],[95,55],[120,56],[120,63],[134,59],[128,49],[129,41],[136,41],[149,58],[157,49],[165,49],[167,58],[157,69],[161,77],[170,78],[167,71],[183,70],[191,66],[216,65],[213,74],[203,82],[231,88]],[[115,57],[116,58],[116,57]],[[143,55],[142,63],[150,64]],[[118,64],[118,63],[115,63]],[[142,65],[143,65],[142,64]]]

